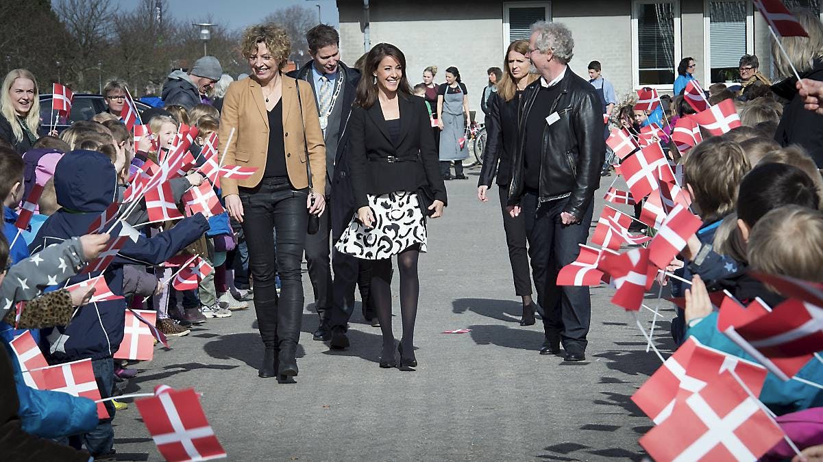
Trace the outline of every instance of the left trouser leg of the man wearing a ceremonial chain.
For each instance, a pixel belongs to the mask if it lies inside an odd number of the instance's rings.
[[[328,196],[326,203],[330,203]],[[326,210],[320,217],[320,228],[317,233],[306,234],[306,262],[309,267],[309,280],[314,289],[314,309],[323,322],[328,320],[328,310],[332,305],[333,296],[331,247],[328,241],[332,229],[331,215],[329,210]]]

